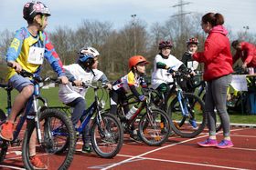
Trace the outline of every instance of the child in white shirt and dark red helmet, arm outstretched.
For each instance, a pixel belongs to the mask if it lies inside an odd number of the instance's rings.
[[[171,41],[161,41],[159,43],[158,48],[160,52],[155,56],[154,71],[151,80],[152,87],[165,98],[171,90],[170,85],[168,85],[169,83],[173,82],[173,77],[171,74],[174,71],[180,71],[187,74],[189,73],[187,67],[174,55],[171,55],[172,47],[173,44]],[[189,122],[191,125],[193,125],[193,127],[197,127],[195,120],[191,119]]]

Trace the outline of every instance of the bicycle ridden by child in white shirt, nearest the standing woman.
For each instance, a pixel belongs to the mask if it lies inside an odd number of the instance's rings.
[[[173,82],[167,95],[155,91],[155,105],[166,110],[170,117],[172,130],[181,137],[192,138],[199,135],[205,128],[205,104],[200,97],[193,93],[182,91],[180,82],[187,76],[181,72],[172,74]]]

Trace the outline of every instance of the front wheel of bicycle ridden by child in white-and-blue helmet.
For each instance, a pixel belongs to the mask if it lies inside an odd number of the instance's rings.
[[[97,155],[112,158],[117,155],[123,145],[123,127],[113,115],[101,115],[101,121],[95,118],[91,126],[91,145]]]

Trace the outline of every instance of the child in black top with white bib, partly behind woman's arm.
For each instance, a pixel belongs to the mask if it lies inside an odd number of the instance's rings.
[[[182,56],[181,61],[192,71],[198,67],[198,62],[193,60],[192,55],[197,52],[198,40],[196,37],[191,37],[187,40],[187,51]]]

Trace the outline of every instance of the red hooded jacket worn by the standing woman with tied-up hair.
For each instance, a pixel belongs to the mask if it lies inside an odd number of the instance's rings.
[[[208,34],[204,52],[198,52],[193,58],[204,63],[204,80],[210,81],[233,73],[228,31],[222,25],[214,26]]]

